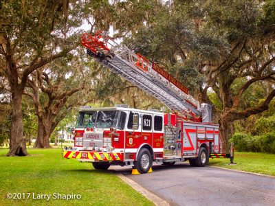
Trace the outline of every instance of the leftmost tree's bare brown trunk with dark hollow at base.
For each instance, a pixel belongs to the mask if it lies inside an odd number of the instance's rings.
[[[14,93],[12,98],[12,122],[10,124],[10,151],[6,156],[27,156],[26,139],[23,134],[23,113],[21,95]]]

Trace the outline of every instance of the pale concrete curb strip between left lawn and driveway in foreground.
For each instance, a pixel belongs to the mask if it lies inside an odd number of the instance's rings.
[[[140,186],[135,181],[132,181],[131,179],[127,178],[123,174],[117,173],[116,175],[120,179],[122,179],[122,181],[124,181],[124,183],[126,183],[126,184],[130,185],[131,187],[133,187],[133,189],[135,191],[140,192],[140,194],[145,196],[148,200],[152,201],[155,205],[157,205],[157,206],[162,206],[162,205],[167,205],[168,206],[168,205],[170,205],[166,201],[164,201],[162,198],[159,198],[159,196],[156,196],[152,192],[149,192],[144,187]]]

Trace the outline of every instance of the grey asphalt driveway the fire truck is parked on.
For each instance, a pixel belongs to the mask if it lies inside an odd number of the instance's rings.
[[[153,164],[153,172],[131,175],[131,168],[115,170],[153,192],[170,205],[275,205],[275,178],[188,162],[173,166]]]

